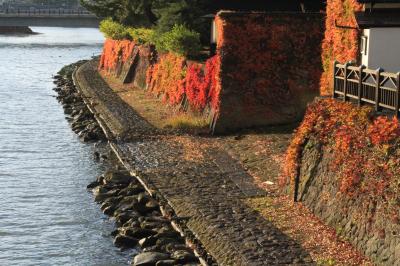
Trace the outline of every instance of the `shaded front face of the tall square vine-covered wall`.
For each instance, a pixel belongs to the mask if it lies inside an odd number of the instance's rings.
[[[319,91],[321,14],[220,12],[216,21],[216,131],[300,120]]]

